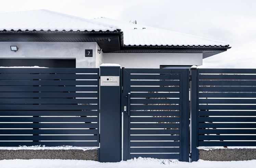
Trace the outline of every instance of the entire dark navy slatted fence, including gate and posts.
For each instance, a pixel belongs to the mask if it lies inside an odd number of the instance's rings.
[[[256,69],[0,68],[0,146],[19,145],[100,147],[104,162],[256,146]]]

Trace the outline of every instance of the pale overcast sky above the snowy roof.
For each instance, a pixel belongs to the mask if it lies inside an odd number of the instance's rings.
[[[204,68],[256,68],[255,0],[12,0],[0,12],[47,9],[69,15],[125,22],[230,43],[226,52],[203,60]],[[1,23],[0,23],[1,24]]]

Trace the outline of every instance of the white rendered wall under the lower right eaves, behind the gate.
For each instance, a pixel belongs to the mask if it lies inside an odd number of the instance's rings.
[[[102,63],[125,68],[159,68],[160,65],[202,65],[203,54],[196,53],[104,53]]]

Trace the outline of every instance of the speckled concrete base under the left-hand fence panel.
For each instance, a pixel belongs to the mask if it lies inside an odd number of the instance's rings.
[[[3,159],[76,159],[98,160],[98,150],[0,150]]]

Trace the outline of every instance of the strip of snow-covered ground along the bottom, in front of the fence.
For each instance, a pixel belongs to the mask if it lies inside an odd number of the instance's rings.
[[[256,160],[205,161],[188,163],[177,160],[138,158],[118,163],[90,160],[31,159],[0,160],[0,168],[255,168]]]

